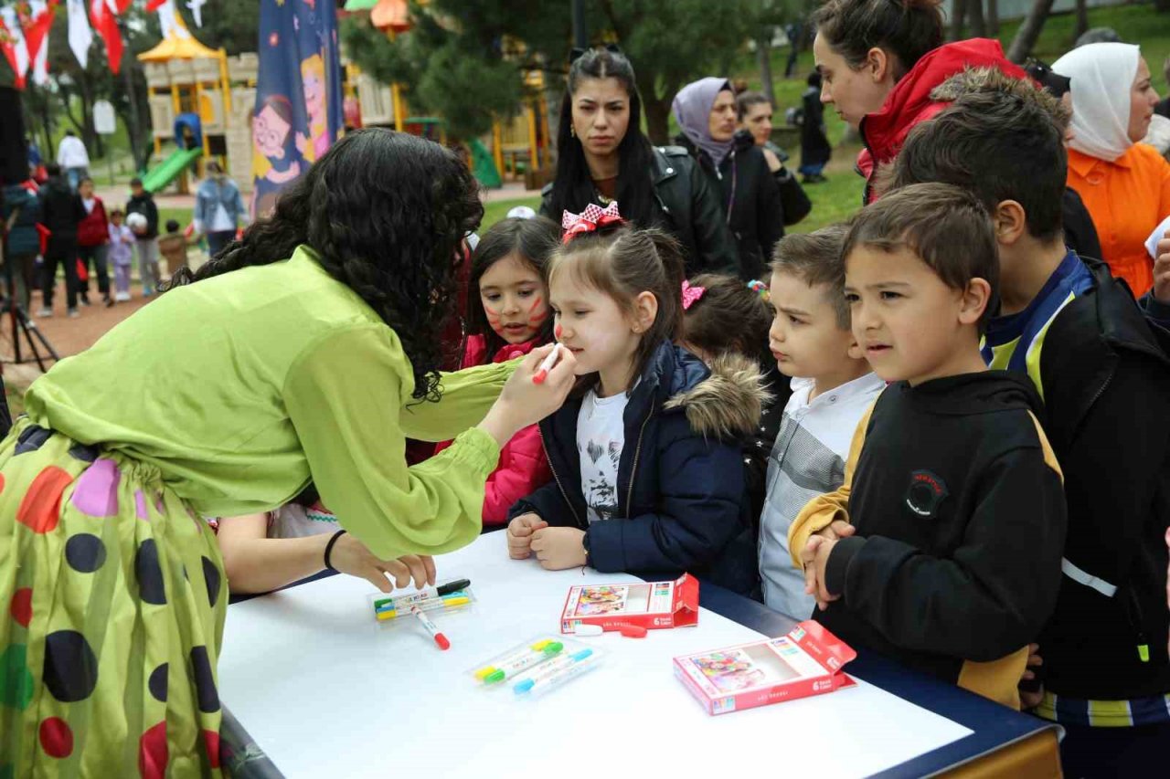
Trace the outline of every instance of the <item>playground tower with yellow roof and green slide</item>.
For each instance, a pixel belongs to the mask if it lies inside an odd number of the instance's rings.
[[[173,140],[176,151],[142,177],[143,188],[158,192],[178,179],[179,191],[187,193],[187,171],[195,166],[201,174],[204,163],[218,159],[248,192],[259,57],[207,48],[178,14],[167,22],[163,41],[138,58],[150,91],[154,154],[161,156],[164,140]]]

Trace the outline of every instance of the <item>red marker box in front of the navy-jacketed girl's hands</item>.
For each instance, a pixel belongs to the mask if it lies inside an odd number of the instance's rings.
[[[577,633],[583,625],[603,630],[698,625],[698,580],[684,573],[674,581],[570,587],[560,632]]]

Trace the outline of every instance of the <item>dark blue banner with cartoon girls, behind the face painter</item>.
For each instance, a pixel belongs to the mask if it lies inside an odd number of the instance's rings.
[[[260,76],[252,118],[254,216],[337,140],[342,68],[337,6],[330,0],[261,0]]]

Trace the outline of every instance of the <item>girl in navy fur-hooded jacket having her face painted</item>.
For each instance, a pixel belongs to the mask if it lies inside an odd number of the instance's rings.
[[[724,552],[750,525],[739,441],[759,420],[759,371],[713,373],[673,344],[683,281],[673,239],[633,229],[613,205],[566,213],[563,226],[550,301],[580,378],[539,425],[553,481],[512,506],[509,553],[549,570],[689,571],[743,592],[755,561]]]

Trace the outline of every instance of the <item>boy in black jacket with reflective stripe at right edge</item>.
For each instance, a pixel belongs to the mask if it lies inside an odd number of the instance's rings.
[[[1069,775],[1138,775],[1170,742],[1170,339],[1152,320],[1165,305],[1147,296],[1143,316],[1106,267],[1066,249],[1058,102],[978,70],[943,88],[951,106],[911,132],[893,186],[958,184],[994,212],[1004,303],[985,357],[1042,393],[1066,477],[1064,577],[1039,639],[1035,712],[1066,728]]]

